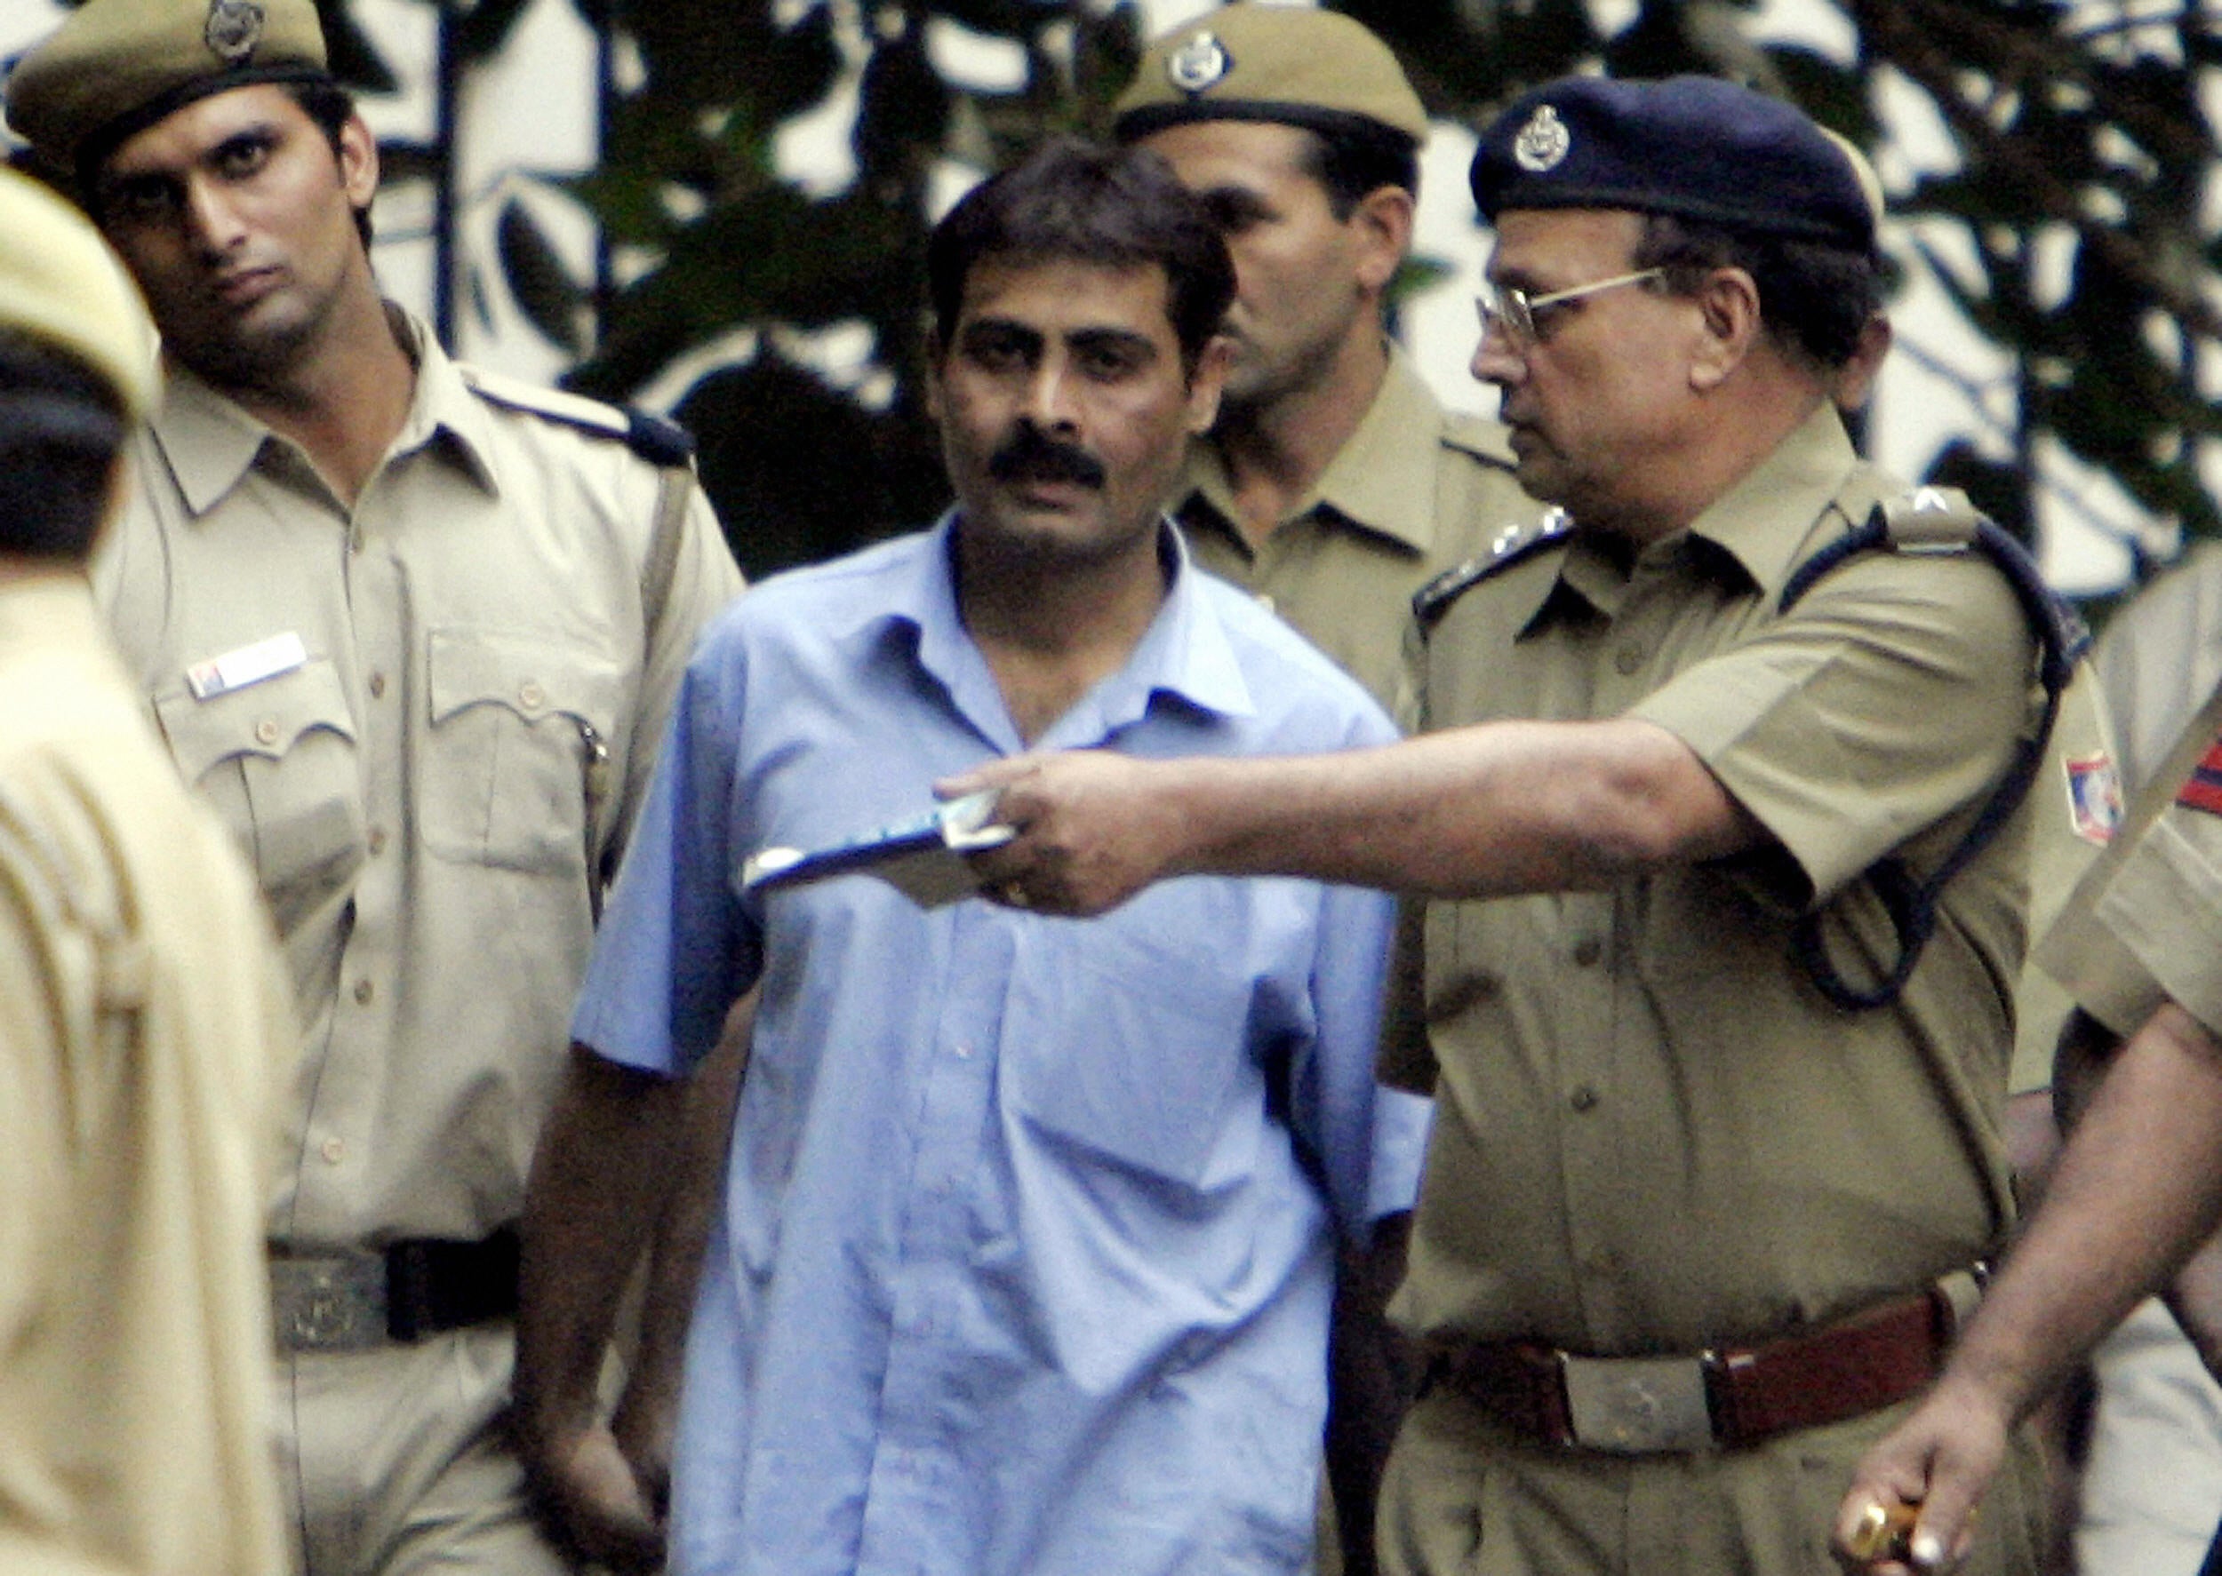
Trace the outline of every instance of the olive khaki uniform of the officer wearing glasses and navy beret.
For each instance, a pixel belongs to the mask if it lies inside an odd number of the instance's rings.
[[[1393,1314],[1431,1350],[1764,1343],[2000,1245],[2031,808],[1944,888],[1895,1003],[1833,1008],[1791,957],[1793,917],[1820,906],[1855,979],[1891,959],[1862,872],[1891,852],[1933,868],[2035,721],[2031,633],[1980,555],[1866,553],[1778,615],[1791,570],[1895,491],[1822,408],[1684,533],[1635,550],[1560,531],[1435,593],[1429,728],[1642,717],[1780,848],[1429,908],[1438,1119]],[[1438,1385],[1391,1461],[1384,1558],[1829,1569],[1842,1485],[1898,1412],[1618,1456],[1533,1443]],[[2031,1569],[2024,1456],[1986,1507],[1980,1569]]]

